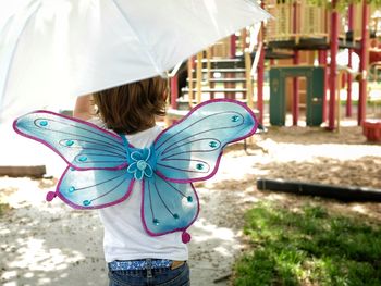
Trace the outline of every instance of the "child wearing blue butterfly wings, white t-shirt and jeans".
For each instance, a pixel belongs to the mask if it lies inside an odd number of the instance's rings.
[[[192,182],[212,177],[224,147],[258,126],[244,103],[214,99],[161,132],[155,116],[164,114],[165,86],[155,77],[96,92],[95,114],[90,97],[79,98],[74,115],[93,124],[50,111],[13,123],[67,163],[48,201],[103,208],[110,285],[189,285],[186,231],[199,212]]]

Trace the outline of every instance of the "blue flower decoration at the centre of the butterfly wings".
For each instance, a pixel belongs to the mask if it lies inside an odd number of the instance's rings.
[[[131,152],[130,158],[133,162],[128,165],[127,172],[134,174],[136,179],[142,179],[144,176],[151,177],[153,170],[148,163],[150,156],[151,151],[147,148]]]

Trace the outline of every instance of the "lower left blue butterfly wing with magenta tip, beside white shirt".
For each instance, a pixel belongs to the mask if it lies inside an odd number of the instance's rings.
[[[134,182],[126,169],[82,171],[67,167],[56,194],[48,194],[47,199],[58,196],[74,209],[106,208],[125,200]]]

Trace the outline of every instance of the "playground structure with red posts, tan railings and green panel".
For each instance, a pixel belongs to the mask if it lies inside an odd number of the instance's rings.
[[[379,92],[368,90],[369,80],[378,84],[381,78],[380,13],[367,1],[340,12],[335,1],[333,9],[305,0],[268,0],[262,5],[274,20],[260,26],[258,37],[257,27],[247,27],[190,58],[187,86],[181,94],[176,77],[171,79],[172,111],[209,98],[236,98],[255,109],[263,123],[268,70],[270,124],[284,125],[285,112],[291,111],[293,125],[297,125],[302,111],[306,112],[306,125],[327,123],[329,130],[337,129],[339,94],[345,86],[345,116],[353,115],[353,98],[357,99],[357,124],[364,126],[367,102],[381,101]],[[340,51],[348,54],[344,65],[335,61]],[[354,54],[359,57],[358,70],[354,70]],[[322,71],[317,72],[319,79],[311,77],[315,70]],[[353,83],[358,83],[358,95],[354,95]]]

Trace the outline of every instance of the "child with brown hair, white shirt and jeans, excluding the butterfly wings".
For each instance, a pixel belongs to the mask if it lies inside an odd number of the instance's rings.
[[[124,134],[134,147],[146,148],[161,132],[155,119],[164,115],[165,98],[165,79],[153,77],[95,92],[93,99],[79,97],[74,117]],[[189,285],[188,250],[181,233],[149,236],[143,227],[139,184],[125,201],[99,210],[110,286]]]

